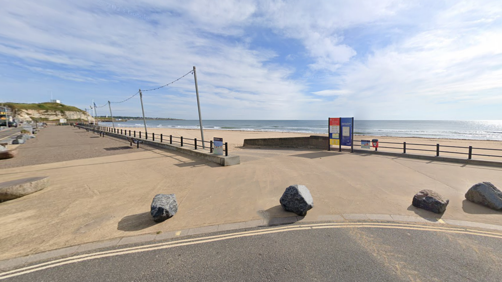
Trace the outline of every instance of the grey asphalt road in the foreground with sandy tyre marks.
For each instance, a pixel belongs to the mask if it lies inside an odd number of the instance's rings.
[[[493,238],[488,236],[495,233],[430,231],[411,225],[399,229],[385,225],[321,229],[302,226],[306,225],[291,225],[289,231],[277,233],[269,232],[274,230],[271,227],[247,229],[267,232],[214,241],[205,238],[195,244],[184,241],[185,245],[178,243],[170,248],[151,246],[146,251],[48,267],[4,281],[499,282],[502,277],[500,234]],[[305,229],[295,230],[299,228]],[[171,241],[242,231],[246,230]],[[0,273],[0,280],[2,277]]]

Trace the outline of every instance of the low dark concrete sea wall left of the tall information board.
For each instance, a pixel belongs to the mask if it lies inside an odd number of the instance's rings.
[[[244,147],[328,149],[328,136],[244,139]]]

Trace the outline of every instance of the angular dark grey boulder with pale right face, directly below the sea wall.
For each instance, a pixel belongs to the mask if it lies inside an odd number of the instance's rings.
[[[291,185],[286,188],[279,200],[283,209],[304,216],[307,211],[314,207],[314,200],[310,191],[304,185]]]

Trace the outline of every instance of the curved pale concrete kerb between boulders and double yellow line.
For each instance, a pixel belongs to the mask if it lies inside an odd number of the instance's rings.
[[[297,221],[303,219],[300,216],[292,216],[285,217],[283,219],[274,218],[274,222],[272,224],[282,224],[282,223],[296,223]],[[296,220],[293,222],[293,220]],[[491,229],[502,231],[502,226],[494,225],[494,224],[486,224],[486,223],[477,223],[472,221],[462,221],[462,220],[453,220],[453,219],[438,219],[438,218],[423,218],[419,216],[404,216],[404,215],[387,215],[387,214],[343,214],[343,215],[320,215],[317,217],[317,220],[306,220],[306,222],[316,222],[316,221],[347,221],[347,220],[378,220],[378,221],[405,221],[405,222],[418,222],[418,223],[440,223],[440,224],[449,224],[455,225],[459,227],[474,227],[474,228],[482,228],[482,229]],[[237,222],[237,223],[228,223],[228,224],[219,224],[212,226],[204,226],[204,227],[196,227],[189,229],[182,229],[178,231],[169,231],[163,232],[159,234],[141,234],[137,236],[131,237],[121,237],[114,239],[106,239],[102,241],[84,243],[81,245],[75,245],[70,247],[65,247],[61,249],[31,254],[22,257],[16,257],[11,259],[6,259],[0,261],[0,270],[14,268],[16,266],[21,266],[26,263],[36,262],[39,260],[56,258],[63,255],[70,255],[78,252],[90,251],[115,245],[124,245],[131,243],[141,243],[141,242],[149,242],[149,241],[158,241],[164,239],[171,239],[175,237],[183,237],[187,235],[196,235],[202,233],[209,233],[214,231],[226,231],[226,230],[234,230],[234,229],[243,229],[250,227],[259,227],[259,226],[271,226],[271,224],[267,224],[264,219]]]

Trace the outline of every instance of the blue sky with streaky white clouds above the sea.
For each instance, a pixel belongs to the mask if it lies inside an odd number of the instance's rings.
[[[145,115],[502,119],[502,2],[2,1],[0,102]],[[139,95],[111,103],[141,116]]]

